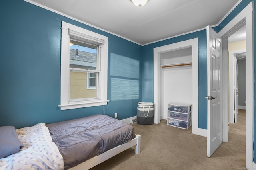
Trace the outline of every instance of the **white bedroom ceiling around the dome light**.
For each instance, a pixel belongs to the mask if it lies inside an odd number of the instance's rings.
[[[25,0],[140,45],[216,25],[241,0]]]

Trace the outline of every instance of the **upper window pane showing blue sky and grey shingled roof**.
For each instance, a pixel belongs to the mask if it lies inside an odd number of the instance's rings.
[[[70,68],[96,70],[97,46],[70,40]]]

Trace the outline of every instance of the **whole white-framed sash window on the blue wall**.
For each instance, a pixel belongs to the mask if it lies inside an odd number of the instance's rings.
[[[62,21],[61,110],[107,104],[108,37]]]

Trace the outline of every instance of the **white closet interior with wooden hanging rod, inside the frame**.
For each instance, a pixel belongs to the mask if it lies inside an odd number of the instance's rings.
[[[160,54],[160,117],[167,119],[168,103],[193,103],[192,47]]]

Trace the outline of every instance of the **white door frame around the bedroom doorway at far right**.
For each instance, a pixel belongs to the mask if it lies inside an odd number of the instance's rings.
[[[224,110],[228,113],[228,40],[227,38],[246,23],[246,168],[256,168],[253,162],[254,118],[254,1],[250,2],[219,34],[223,39]],[[225,42],[224,42],[225,41]],[[226,68],[225,68],[226,66]],[[228,114],[223,117],[223,141],[228,141]]]

